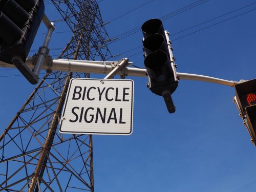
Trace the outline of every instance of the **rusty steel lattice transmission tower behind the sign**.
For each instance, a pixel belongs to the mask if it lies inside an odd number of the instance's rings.
[[[111,57],[95,0],[52,3],[73,32],[58,58]],[[94,191],[92,136],[57,130],[72,77],[90,75],[46,74],[0,136],[0,191]]]

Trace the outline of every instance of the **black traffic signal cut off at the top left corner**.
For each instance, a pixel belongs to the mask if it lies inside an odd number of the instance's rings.
[[[0,60],[14,64],[33,84],[24,65],[45,13],[44,0],[0,0]]]

